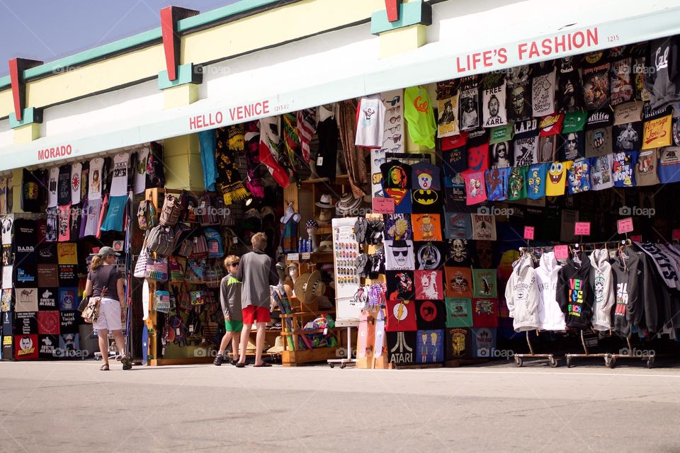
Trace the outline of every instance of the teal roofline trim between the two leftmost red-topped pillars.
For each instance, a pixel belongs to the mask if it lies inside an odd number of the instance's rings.
[[[60,72],[67,71],[69,67],[78,67],[94,59],[99,59],[106,57],[106,55],[119,52],[125,52],[125,50],[128,50],[132,47],[144,45],[147,42],[152,42],[155,40],[161,40],[161,38],[161,28],[154,28],[153,30],[145,31],[144,33],[139,33],[128,38],[123,38],[122,40],[109,42],[108,44],[80,52],[76,55],[71,55],[69,57],[57,59],[54,62],[49,62],[34,68],[26,69],[26,71],[23,71],[23,79],[33,79],[35,77],[44,76],[45,74],[60,74]]]

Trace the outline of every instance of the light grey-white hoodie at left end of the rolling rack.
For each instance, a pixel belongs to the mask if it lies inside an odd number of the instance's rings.
[[[538,293],[536,272],[531,256],[524,255],[512,264],[512,274],[505,288],[505,302],[516,332],[538,328]]]

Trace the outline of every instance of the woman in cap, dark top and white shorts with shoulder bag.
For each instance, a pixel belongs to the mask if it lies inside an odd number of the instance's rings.
[[[90,272],[87,275],[85,294],[89,297],[99,297],[104,292],[99,306],[99,317],[93,328],[99,333],[99,351],[104,365],[101,371],[108,371],[108,331],[113,331],[113,338],[121,354],[125,352],[122,326],[125,322],[125,291],[123,289],[123,275],[115,268],[116,253],[111,247],[102,247],[92,258]],[[104,291],[106,289],[106,291]],[[120,360],[123,369],[132,368],[130,357],[123,355]]]

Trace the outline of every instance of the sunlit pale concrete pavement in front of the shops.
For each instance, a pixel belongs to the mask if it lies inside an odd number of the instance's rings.
[[[678,452],[680,369],[0,363],[0,452]],[[632,363],[632,362],[631,362]]]

